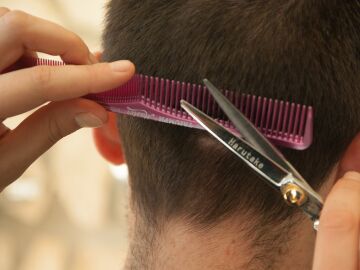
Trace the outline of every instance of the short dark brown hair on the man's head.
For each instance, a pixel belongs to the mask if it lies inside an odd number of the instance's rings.
[[[199,84],[207,77],[220,88],[312,105],[313,145],[281,150],[318,190],[339,161],[339,170],[354,166],[341,157],[360,127],[359,7],[336,0],[114,0],[104,60],[130,59],[138,73]],[[173,220],[205,230],[247,217],[262,225],[242,228],[254,245],[282,241],[273,231],[297,212],[206,132],[127,116],[118,122],[133,211],[149,231]],[[359,151],[353,144],[351,158]],[[265,232],[273,235],[268,243]]]

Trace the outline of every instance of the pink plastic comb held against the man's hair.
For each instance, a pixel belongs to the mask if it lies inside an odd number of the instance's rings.
[[[64,65],[63,62],[31,58],[27,66]],[[222,91],[223,94],[274,144],[303,150],[313,139],[313,110],[310,106]],[[90,94],[109,111],[180,126],[202,128],[180,107],[184,99],[221,125],[238,133],[205,86],[137,74],[116,89]]]

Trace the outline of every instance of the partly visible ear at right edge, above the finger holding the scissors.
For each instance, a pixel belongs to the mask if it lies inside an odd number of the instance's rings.
[[[340,159],[337,179],[341,178],[348,171],[360,172],[360,133],[354,137]]]

